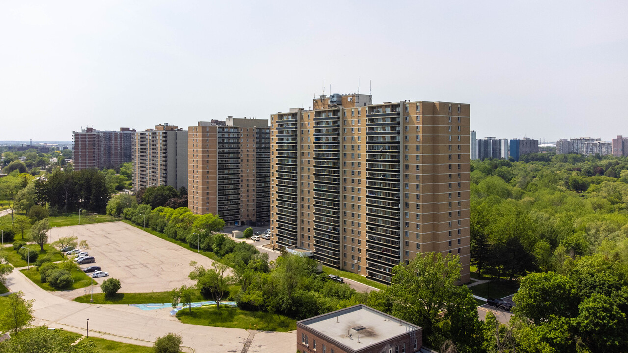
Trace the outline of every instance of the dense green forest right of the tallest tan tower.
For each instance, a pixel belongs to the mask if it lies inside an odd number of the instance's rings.
[[[487,319],[484,349],[625,351],[628,158],[524,160],[471,165],[472,264],[522,277],[516,315],[508,325]]]

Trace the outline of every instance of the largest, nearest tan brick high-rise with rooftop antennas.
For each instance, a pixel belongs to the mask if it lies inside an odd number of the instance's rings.
[[[469,278],[469,106],[332,94],[271,116],[271,242],[390,283],[417,254]]]

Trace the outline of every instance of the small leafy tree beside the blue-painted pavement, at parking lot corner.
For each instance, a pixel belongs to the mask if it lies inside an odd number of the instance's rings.
[[[230,275],[225,275],[227,271],[227,265],[215,262],[214,268],[205,269],[203,266],[198,266],[196,261],[192,261],[190,266],[193,266],[194,270],[188,277],[190,280],[197,281],[197,288],[203,295],[210,295],[216,302],[217,310],[220,310],[220,301],[224,298],[225,293],[229,291],[229,285],[233,283],[234,278]]]

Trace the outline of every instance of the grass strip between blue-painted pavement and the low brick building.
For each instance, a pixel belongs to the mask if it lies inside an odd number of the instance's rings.
[[[233,327],[234,329],[254,329],[257,323],[258,330],[289,332],[296,330],[296,320],[283,315],[266,312],[247,312],[240,308],[215,307],[192,308],[180,310],[176,313],[183,323],[193,325],[207,325],[218,327]]]

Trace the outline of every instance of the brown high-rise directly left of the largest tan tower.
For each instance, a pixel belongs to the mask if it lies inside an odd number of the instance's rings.
[[[268,119],[227,117],[188,129],[188,207],[227,225],[270,222]]]

